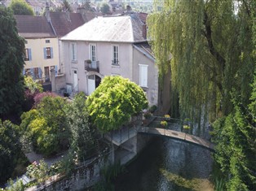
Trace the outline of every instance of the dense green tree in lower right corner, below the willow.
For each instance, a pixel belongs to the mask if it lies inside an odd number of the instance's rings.
[[[255,76],[256,82],[256,76]],[[233,99],[234,111],[214,123],[214,158],[225,176],[227,190],[256,187],[256,83],[249,106]]]

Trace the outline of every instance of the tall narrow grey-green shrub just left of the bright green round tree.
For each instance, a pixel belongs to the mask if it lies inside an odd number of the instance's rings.
[[[77,153],[79,160],[85,157],[86,151],[94,144],[93,130],[90,128],[88,117],[86,95],[82,92],[77,93],[74,101],[68,106],[67,120],[71,132],[70,147],[72,152]]]

